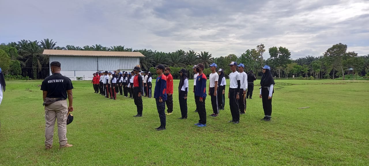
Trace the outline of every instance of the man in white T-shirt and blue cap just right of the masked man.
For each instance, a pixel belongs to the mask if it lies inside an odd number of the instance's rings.
[[[218,80],[219,75],[217,73],[217,64],[213,63],[210,66],[211,73],[209,75],[209,96],[211,99],[211,106],[213,106],[213,114],[211,117],[217,117],[219,113],[218,108]],[[220,94],[221,95],[221,94]]]

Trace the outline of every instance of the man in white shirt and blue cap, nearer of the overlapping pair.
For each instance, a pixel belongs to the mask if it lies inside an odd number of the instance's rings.
[[[241,78],[239,73],[236,71],[237,62],[231,62],[229,64],[232,72],[230,73],[230,89],[228,91],[228,98],[230,99],[230,110],[232,114],[232,120],[234,124],[239,123],[239,110],[238,110],[238,99],[239,99],[239,88],[241,87]]]

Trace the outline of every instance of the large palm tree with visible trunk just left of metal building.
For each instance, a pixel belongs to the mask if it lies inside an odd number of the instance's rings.
[[[21,58],[25,60],[24,62],[21,62],[21,64],[25,66],[32,66],[32,73],[33,73],[33,79],[37,79],[37,72],[41,71],[42,65],[40,63],[40,56],[42,56],[42,52],[44,49],[41,48],[40,45],[38,45],[38,41],[29,41],[27,45],[23,45],[21,48],[21,53],[23,56]]]

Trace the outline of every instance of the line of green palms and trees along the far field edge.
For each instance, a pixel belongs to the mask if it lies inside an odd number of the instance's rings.
[[[335,44],[328,48],[321,56],[306,56],[305,58],[291,59],[291,52],[286,47],[271,47],[268,49],[269,58],[265,56],[265,46],[260,44],[254,49],[247,49],[240,56],[230,54],[212,57],[206,51],[195,52],[194,50],[183,51],[179,49],[174,52],[159,52],[151,49],[132,49],[125,46],[102,46],[86,45],[83,47],[66,45],[56,46],[57,42],[52,39],[42,41],[21,40],[0,45],[0,67],[6,75],[21,75],[32,79],[44,79],[49,75],[49,60],[42,55],[44,49],[60,50],[85,50],[85,51],[129,51],[141,52],[145,57],[140,58],[140,65],[143,70],[163,64],[171,66],[173,69],[186,68],[191,70],[193,65],[203,63],[209,68],[211,63],[216,63],[218,68],[224,69],[225,73],[230,73],[228,64],[235,61],[243,63],[247,70],[254,70],[256,76],[261,72],[264,65],[272,68],[273,75],[278,78],[284,77],[310,77],[317,79],[334,79],[335,76],[345,76],[348,69],[353,74],[365,75],[369,72],[369,54],[358,56],[355,52],[347,52],[347,45]],[[267,58],[265,60],[265,58]],[[4,59],[4,60],[3,60]],[[205,71],[204,73],[210,72]],[[172,71],[174,74],[174,72]],[[345,79],[345,78],[343,78]]]

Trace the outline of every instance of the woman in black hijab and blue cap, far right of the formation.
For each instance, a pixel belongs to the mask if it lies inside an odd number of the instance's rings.
[[[270,121],[272,118],[272,95],[274,93],[273,86],[275,82],[273,80],[272,73],[270,72],[270,66],[265,65],[263,67],[263,76],[260,80],[260,98],[263,100],[263,109],[265,117],[262,121]]]

